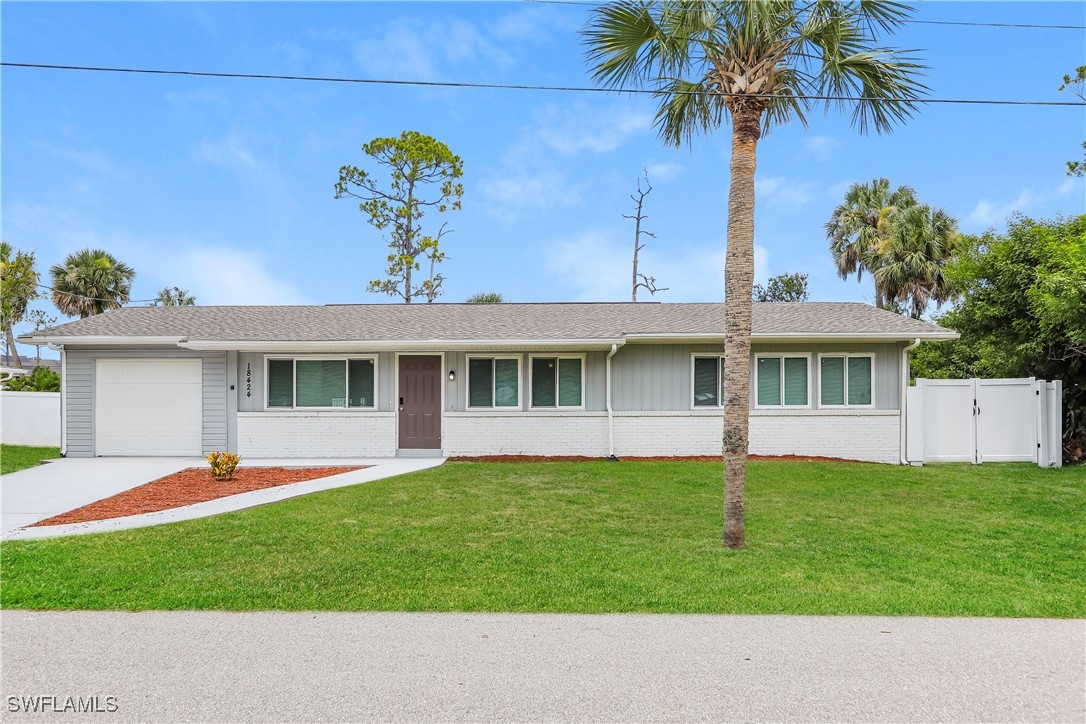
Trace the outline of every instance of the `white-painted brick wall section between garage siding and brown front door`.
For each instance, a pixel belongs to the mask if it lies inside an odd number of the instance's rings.
[[[394,457],[395,412],[239,412],[245,457]]]

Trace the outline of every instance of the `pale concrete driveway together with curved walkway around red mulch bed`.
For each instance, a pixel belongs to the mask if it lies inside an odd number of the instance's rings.
[[[178,470],[207,465],[203,458],[62,458],[3,477],[0,481],[0,504],[3,510],[0,538],[7,541],[102,533],[217,516],[318,491],[402,475],[432,468],[442,462],[444,458],[247,459],[242,462],[242,467],[369,467],[329,478],[241,493],[173,510],[70,525],[24,528]]]

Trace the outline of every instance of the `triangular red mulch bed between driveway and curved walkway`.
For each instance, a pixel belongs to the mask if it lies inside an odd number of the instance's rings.
[[[118,493],[113,497],[96,500],[81,508],[38,521],[34,526],[84,523],[89,520],[106,520],[136,516],[141,512],[169,510],[193,503],[225,498],[238,493],[328,478],[352,470],[362,470],[362,467],[238,468],[232,480],[218,481],[211,477],[207,468],[187,468],[172,475],[152,480],[139,487]]]

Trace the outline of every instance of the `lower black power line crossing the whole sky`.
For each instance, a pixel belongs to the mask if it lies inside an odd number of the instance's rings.
[[[169,71],[163,68],[125,68],[100,67],[91,65],[53,65],[48,63],[11,63],[2,62],[0,66],[18,68],[38,68],[47,71],[87,71],[94,73],[131,73],[144,75],[177,75],[200,78],[249,78],[258,80],[300,80],[307,82],[348,82],[376,86],[424,86],[438,88],[480,88],[489,90],[541,90],[567,91],[578,93],[648,93],[658,91],[651,88],[597,88],[594,86],[529,86],[498,82],[463,82],[451,80],[393,80],[388,78],[337,78],[329,76],[275,75],[269,73],[220,73],[212,71]],[[693,96],[696,91],[675,91],[677,94]],[[774,93],[743,93],[747,98],[779,98]],[[788,99],[801,101],[873,101],[892,102],[893,99],[846,96],[787,96]],[[917,98],[912,103],[951,103],[963,105],[1051,105],[1051,106],[1086,106],[1086,101],[999,101],[969,98]]]

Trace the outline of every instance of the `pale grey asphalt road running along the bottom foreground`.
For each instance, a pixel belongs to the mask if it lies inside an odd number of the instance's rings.
[[[1084,621],[3,611],[0,644],[13,722],[1086,721]],[[41,696],[116,711],[12,713]]]

